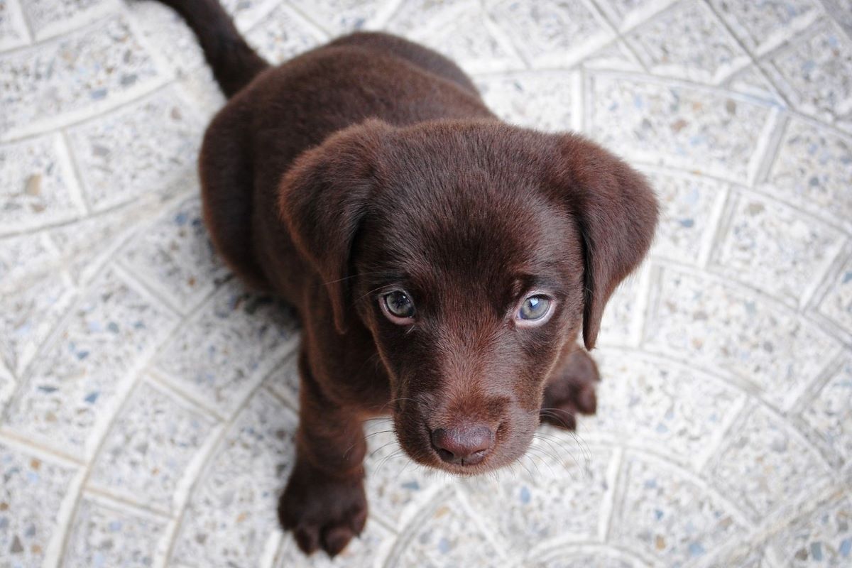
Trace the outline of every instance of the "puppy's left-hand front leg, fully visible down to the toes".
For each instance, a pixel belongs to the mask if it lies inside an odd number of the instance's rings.
[[[366,440],[360,416],[325,398],[304,351],[299,370],[296,466],[279,501],[279,520],[305,554],[322,548],[335,556],[366,523]]]

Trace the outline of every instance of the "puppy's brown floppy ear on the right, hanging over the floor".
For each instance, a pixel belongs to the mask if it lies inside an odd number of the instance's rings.
[[[556,185],[583,238],[583,342],[591,349],[609,296],[651,246],[659,208],[644,176],[601,146],[561,135],[557,147]]]

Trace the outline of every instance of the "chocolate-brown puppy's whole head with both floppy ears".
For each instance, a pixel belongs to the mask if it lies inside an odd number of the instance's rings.
[[[598,146],[459,121],[343,131],[285,176],[281,209],[338,330],[370,331],[400,445],[453,473],[527,449],[551,370],[581,326],[594,345],[656,220]]]

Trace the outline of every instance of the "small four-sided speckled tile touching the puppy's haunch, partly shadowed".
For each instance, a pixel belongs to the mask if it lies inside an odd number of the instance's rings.
[[[204,227],[199,195],[181,200],[142,229],[119,258],[181,310],[196,306],[230,274]]]

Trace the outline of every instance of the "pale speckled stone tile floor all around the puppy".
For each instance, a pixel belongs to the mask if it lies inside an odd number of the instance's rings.
[[[852,565],[852,2],[226,4],[276,61],[426,43],[648,174],[599,414],[485,479],[373,425],[366,533],[304,559],[273,513],[298,330],[210,250],[194,38],[154,3],[0,0],[0,566]]]

